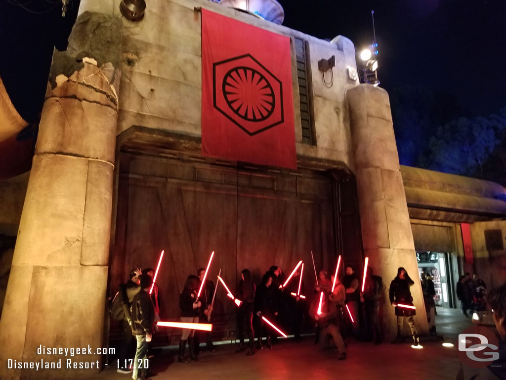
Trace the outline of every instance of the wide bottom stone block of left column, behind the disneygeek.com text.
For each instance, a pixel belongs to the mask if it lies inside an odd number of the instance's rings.
[[[67,369],[66,361],[102,362],[95,354],[102,342],[107,267],[34,267],[23,360],[62,359],[62,368],[37,373],[23,370],[30,378],[76,378],[97,373],[92,369]],[[40,345],[47,348],[91,348],[91,355],[38,355]],[[46,377],[44,377],[46,376]]]

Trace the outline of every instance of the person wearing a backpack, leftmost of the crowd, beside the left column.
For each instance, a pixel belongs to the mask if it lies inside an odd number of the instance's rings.
[[[134,296],[141,290],[139,276],[140,269],[133,269],[130,278],[125,284],[119,285],[119,290],[114,296],[110,309],[110,316],[116,321],[121,321],[121,341],[118,347],[119,366],[117,372],[130,373],[129,361],[134,357],[135,338],[132,335],[131,306]]]

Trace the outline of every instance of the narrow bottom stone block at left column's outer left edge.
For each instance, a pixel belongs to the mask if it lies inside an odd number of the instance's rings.
[[[19,370],[7,369],[7,360],[21,360],[23,357],[32,272],[31,265],[11,267],[0,320],[0,346],[3,347],[0,350],[0,378],[3,379],[19,378],[16,377],[19,376]]]

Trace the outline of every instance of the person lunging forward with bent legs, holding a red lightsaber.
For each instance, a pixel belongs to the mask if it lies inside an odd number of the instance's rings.
[[[329,293],[320,292],[323,296],[313,297],[309,315],[319,325],[318,341],[322,348],[330,347],[329,337],[332,338],[338,348],[338,359],[346,359],[346,346],[339,330],[338,311],[334,303],[330,302]]]

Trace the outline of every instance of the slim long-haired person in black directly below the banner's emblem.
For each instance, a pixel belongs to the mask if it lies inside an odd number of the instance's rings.
[[[253,330],[253,310],[255,300],[255,283],[251,281],[251,273],[247,269],[241,272],[241,281],[237,286],[235,298],[241,301],[237,310],[237,327],[239,329],[239,347],[237,352],[244,351],[244,330],[247,330],[249,349],[247,355],[255,354],[255,331]]]

